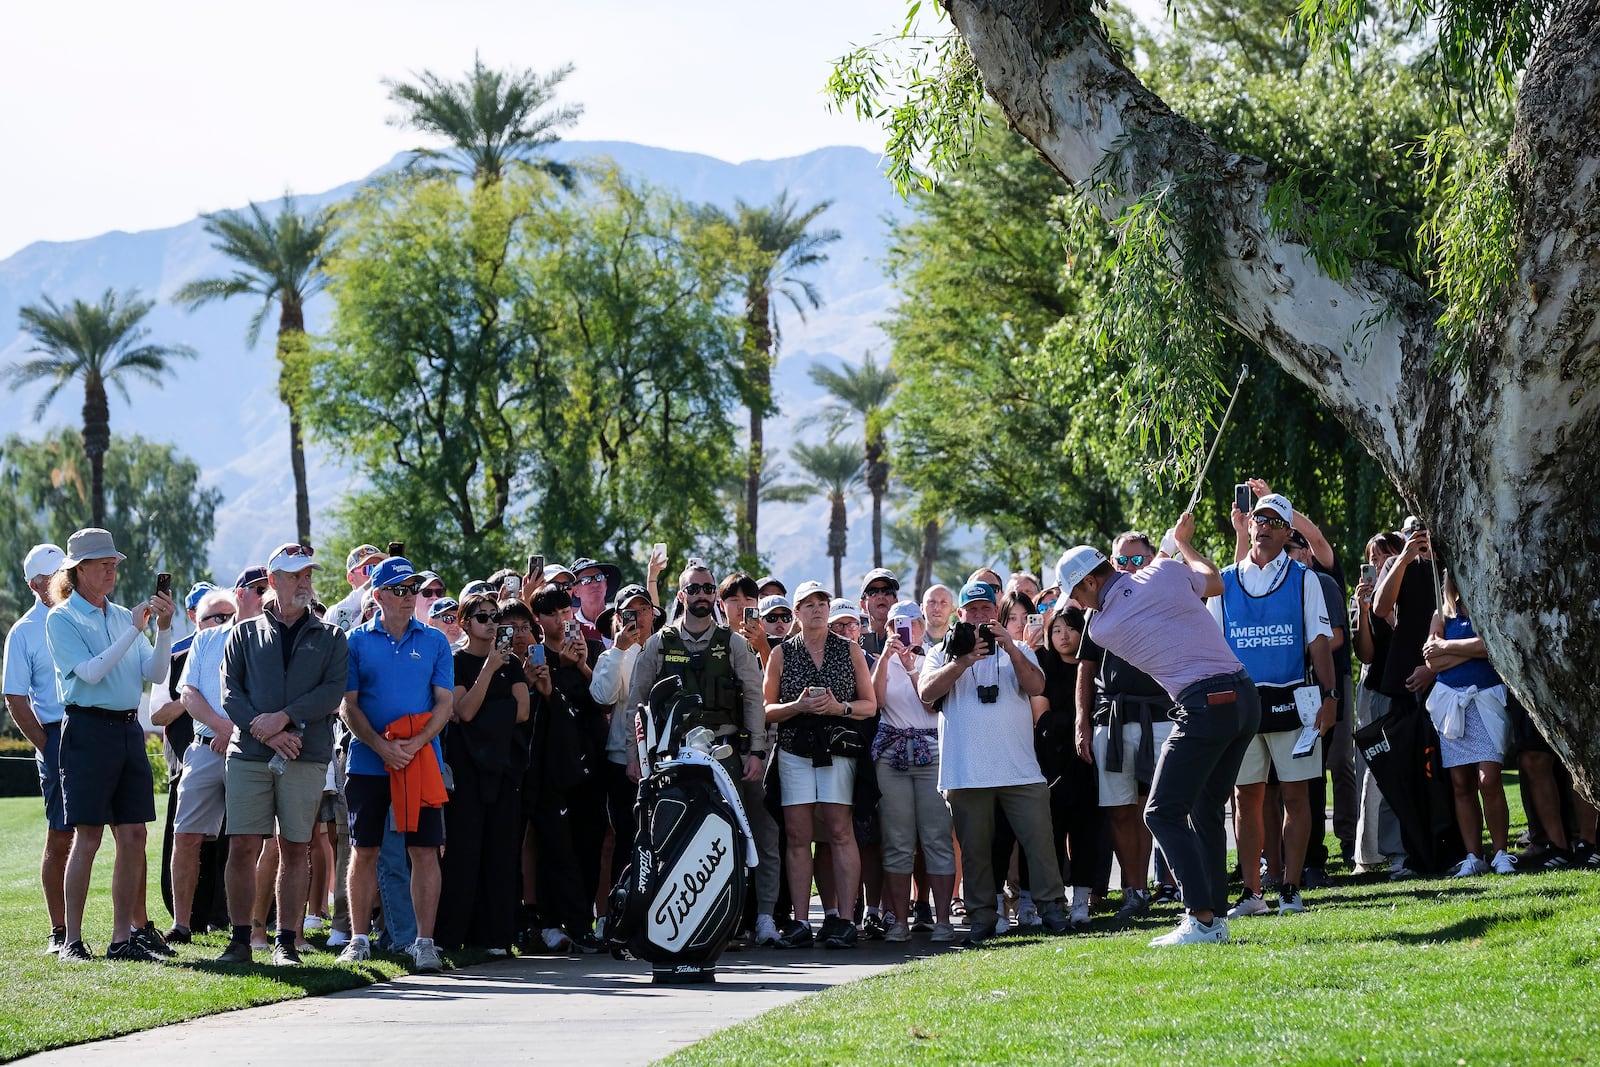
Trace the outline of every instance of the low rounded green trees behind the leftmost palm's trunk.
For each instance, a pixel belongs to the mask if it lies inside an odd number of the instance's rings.
[[[0,443],[0,558],[21,560],[35,544],[67,544],[72,531],[90,525],[90,472],[83,442],[70,429],[43,440],[11,435]],[[106,528],[128,558],[122,563],[114,600],[149,595],[155,574],[166,571],[173,587],[187,589],[210,574],[206,550],[216,530],[218,490],[200,486],[200,467],[171,445],[142,437],[112,437],[106,453]],[[34,593],[21,566],[8,566],[0,581],[24,609]]]

